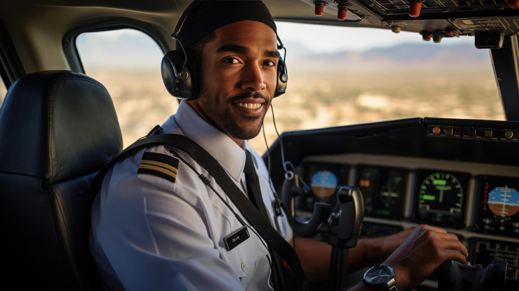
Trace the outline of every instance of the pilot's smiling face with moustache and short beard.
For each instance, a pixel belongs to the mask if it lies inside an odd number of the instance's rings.
[[[202,52],[200,97],[193,102],[202,117],[224,133],[251,139],[260,133],[276,89],[276,33],[249,20],[215,32],[216,39]]]

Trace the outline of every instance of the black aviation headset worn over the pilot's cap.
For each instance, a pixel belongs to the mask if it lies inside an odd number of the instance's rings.
[[[162,82],[166,86],[169,94],[173,97],[183,100],[195,100],[198,97],[200,87],[200,72],[199,64],[193,56],[193,52],[185,48],[178,35],[182,30],[182,26],[189,15],[196,6],[203,1],[198,1],[190,5],[182,14],[179,22],[176,24],[175,32],[171,34],[171,38],[176,39],[177,45],[175,50],[166,52],[162,57],[160,63],[160,72],[162,75]],[[283,46],[281,39],[276,33],[278,40],[278,50],[284,49],[284,57],[286,57],[286,48]],[[283,58],[279,58],[277,71],[277,84],[274,97],[284,94],[286,90],[286,83],[288,81],[288,73],[286,72],[286,65]]]

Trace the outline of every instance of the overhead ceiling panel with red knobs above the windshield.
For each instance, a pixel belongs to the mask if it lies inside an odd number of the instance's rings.
[[[446,37],[477,32],[519,32],[519,0],[301,0],[314,7],[324,5],[321,14],[340,15],[347,9],[348,17],[372,27],[391,28],[441,34]],[[419,6],[417,8],[417,6]],[[309,7],[309,14],[311,12]],[[316,15],[318,9],[316,8]],[[340,22],[340,20],[337,20]],[[395,28],[400,27],[400,28]],[[425,39],[425,38],[424,38]]]

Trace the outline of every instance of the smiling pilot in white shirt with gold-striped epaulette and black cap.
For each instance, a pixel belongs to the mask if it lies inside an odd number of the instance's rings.
[[[180,102],[161,127],[164,133],[185,135],[216,158],[292,244],[286,215],[277,215],[273,206],[267,167],[247,142],[260,133],[274,97],[280,59],[276,34],[261,1],[195,6],[177,36],[197,58],[199,95]],[[229,234],[243,228],[235,213],[243,219],[208,171],[183,151],[155,146],[130,155],[108,171],[92,207],[89,245],[103,284],[126,290],[279,290],[286,284],[296,289],[285,281],[279,256],[250,224],[245,222],[247,234],[228,246]],[[325,281],[330,246],[299,237],[296,245],[308,280]],[[392,287],[405,290],[442,262],[466,263],[467,256],[456,235],[424,225],[384,240],[359,240],[348,263],[352,270],[384,262],[394,270]],[[353,289],[372,287],[359,282]]]

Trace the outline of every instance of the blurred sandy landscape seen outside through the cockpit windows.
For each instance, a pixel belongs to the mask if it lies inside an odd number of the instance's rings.
[[[292,48],[288,90],[272,102],[280,133],[407,117],[504,120],[488,50],[424,43],[315,54],[285,45]],[[158,68],[85,67],[110,92],[125,147],[176,111]],[[265,129],[271,144],[277,137],[270,112]],[[265,152],[263,135],[250,142]]]

